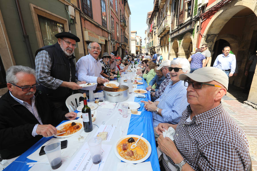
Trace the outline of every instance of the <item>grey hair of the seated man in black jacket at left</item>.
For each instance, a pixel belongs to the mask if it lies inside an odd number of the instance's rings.
[[[11,66],[6,71],[6,82],[17,84],[19,80],[16,77],[16,74],[18,74],[19,72],[23,72],[23,73],[26,73],[26,74],[33,74],[36,78],[36,72],[35,72],[34,69],[29,68],[27,66],[17,65],[17,66]]]

